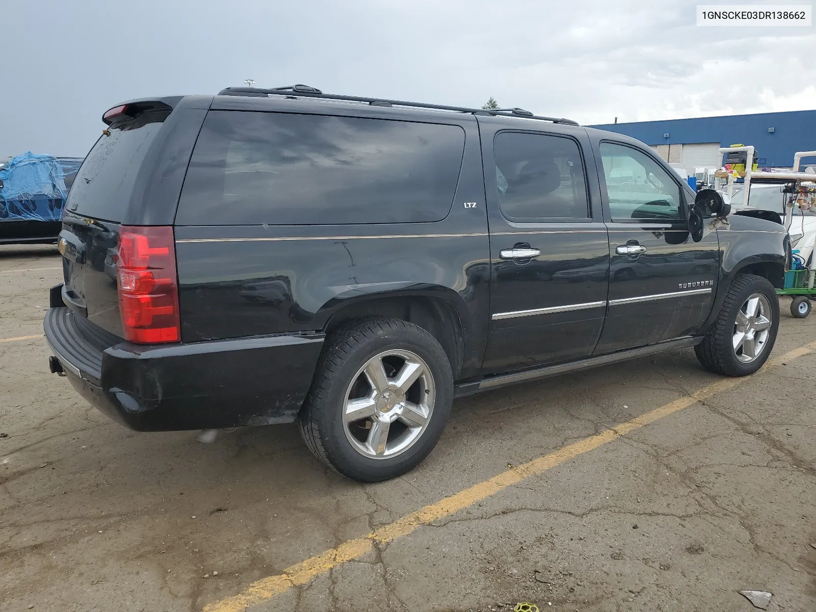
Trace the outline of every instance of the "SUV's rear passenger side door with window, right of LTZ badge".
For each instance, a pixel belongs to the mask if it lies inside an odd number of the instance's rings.
[[[481,126],[491,268],[485,373],[588,357],[601,335],[609,244],[595,163],[583,130],[552,129]]]

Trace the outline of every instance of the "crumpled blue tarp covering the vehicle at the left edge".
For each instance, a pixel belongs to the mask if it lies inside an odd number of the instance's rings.
[[[76,164],[30,151],[12,157],[0,170],[0,221],[59,221],[68,197],[65,175]]]

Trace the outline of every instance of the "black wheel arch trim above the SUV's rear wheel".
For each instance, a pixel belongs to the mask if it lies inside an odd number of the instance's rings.
[[[461,299],[458,294],[456,298]],[[353,322],[370,317],[401,319],[428,331],[445,350],[454,378],[459,375],[464,359],[466,324],[452,297],[407,293],[368,295],[362,299],[348,300],[328,313],[323,330],[331,334],[341,326],[353,325]]]

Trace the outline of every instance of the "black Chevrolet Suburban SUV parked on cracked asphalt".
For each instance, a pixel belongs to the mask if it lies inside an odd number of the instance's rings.
[[[692,346],[748,375],[774,344],[783,227],[695,203],[627,136],[307,86],[104,122],[45,330],[51,370],[130,428],[297,420],[378,481],[455,397]]]

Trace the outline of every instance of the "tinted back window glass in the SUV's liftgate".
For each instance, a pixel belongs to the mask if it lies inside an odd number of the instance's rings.
[[[145,111],[109,126],[82,162],[65,207],[93,219],[124,219],[136,175],[168,114]]]

